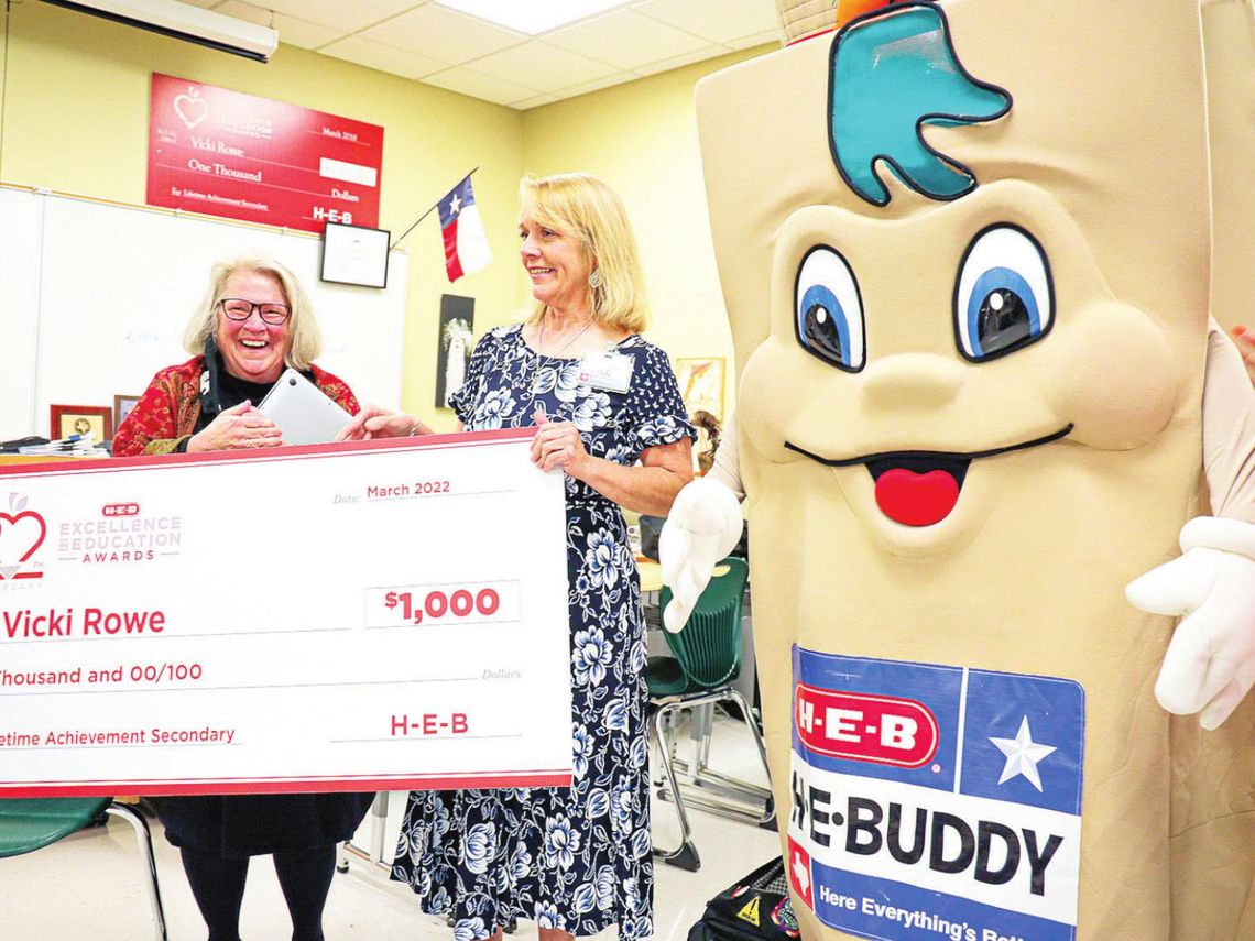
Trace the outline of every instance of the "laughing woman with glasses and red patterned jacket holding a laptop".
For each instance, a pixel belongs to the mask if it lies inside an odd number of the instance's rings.
[[[284,444],[282,429],[256,403],[285,366],[349,413],[359,410],[349,386],[314,365],[321,335],[309,299],[295,276],[269,258],[215,265],[183,344],[196,355],[153,376],[114,435],[114,457]],[[336,844],[353,836],[373,797],[241,794],[153,803],[182,853],[210,941],[238,941],[248,859],[261,854],[275,857],[292,941],[323,941]]]

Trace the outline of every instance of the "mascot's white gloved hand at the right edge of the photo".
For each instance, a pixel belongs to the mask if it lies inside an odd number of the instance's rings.
[[[1181,528],[1181,556],[1124,588],[1143,611],[1181,617],[1155,684],[1177,715],[1202,710],[1215,729],[1255,684],[1255,523],[1196,517]]]

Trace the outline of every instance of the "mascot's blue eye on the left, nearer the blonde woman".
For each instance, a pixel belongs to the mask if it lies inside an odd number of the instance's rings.
[[[862,300],[846,260],[817,245],[806,253],[793,294],[797,341],[812,356],[857,373],[867,361]]]

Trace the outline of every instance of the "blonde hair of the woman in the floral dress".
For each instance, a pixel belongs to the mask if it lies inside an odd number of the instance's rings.
[[[525,216],[577,238],[584,260],[596,265],[601,284],[589,287],[592,319],[634,334],[644,330],[649,322],[645,279],[628,212],[615,191],[591,173],[528,176],[518,183],[518,199]],[[537,301],[527,322],[537,322],[543,314],[545,305]]]

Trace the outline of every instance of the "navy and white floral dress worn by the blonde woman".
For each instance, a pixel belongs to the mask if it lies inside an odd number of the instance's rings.
[[[468,430],[527,427],[543,409],[619,464],[693,438],[666,355],[636,335],[615,351],[633,361],[626,393],[580,384],[580,360],[541,356],[522,327],[497,327],[476,346],[453,408]],[[516,918],[576,936],[654,930],[640,581],[619,507],[570,477],[566,557],[571,788],[409,795],[392,875],[423,911],[453,915],[456,941]]]

